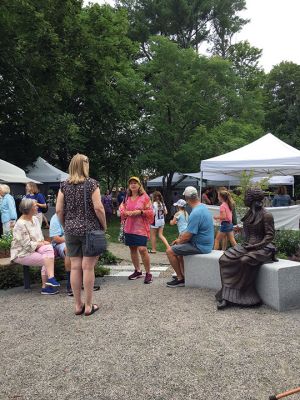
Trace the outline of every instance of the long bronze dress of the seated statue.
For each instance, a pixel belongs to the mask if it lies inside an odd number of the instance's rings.
[[[220,257],[222,289],[216,298],[251,306],[261,303],[255,281],[260,266],[274,260],[275,247],[271,242],[275,229],[272,214],[264,209],[256,216],[249,211],[243,222],[246,243],[228,249]],[[251,247],[247,250],[245,247],[249,245]]]

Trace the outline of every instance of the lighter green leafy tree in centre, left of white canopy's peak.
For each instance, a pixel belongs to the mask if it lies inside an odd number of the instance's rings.
[[[154,37],[151,51],[152,61],[142,67],[147,101],[140,160],[166,177],[166,195],[174,172],[198,170],[208,156],[208,131],[228,116],[236,77],[229,62],[199,57],[166,38]]]

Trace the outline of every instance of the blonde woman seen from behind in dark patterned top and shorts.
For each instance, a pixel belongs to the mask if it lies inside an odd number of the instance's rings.
[[[86,255],[86,233],[106,230],[105,210],[101,202],[99,184],[89,178],[89,159],[76,154],[69,165],[70,177],[62,182],[56,201],[56,213],[64,227],[66,247],[71,259],[71,287],[75,299],[75,314],[89,316],[99,310],[93,304],[95,265],[99,256]],[[86,190],[86,212],[84,190]],[[81,300],[84,286],[85,303]]]

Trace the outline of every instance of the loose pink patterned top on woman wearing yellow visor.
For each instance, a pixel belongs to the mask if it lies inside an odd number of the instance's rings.
[[[143,210],[143,215],[124,217],[124,211]],[[147,193],[136,199],[128,197],[125,203],[120,205],[121,218],[125,220],[124,232],[134,235],[147,236],[150,238],[150,222],[153,220],[154,212]]]

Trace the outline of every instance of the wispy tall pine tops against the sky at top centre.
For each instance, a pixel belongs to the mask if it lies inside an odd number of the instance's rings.
[[[236,15],[245,8],[245,0],[118,0],[117,7],[128,12],[130,37],[141,43],[142,54],[148,59],[148,40],[153,35],[195,50],[210,40],[214,53],[223,55],[228,46],[220,49],[225,42],[248,22]]]

